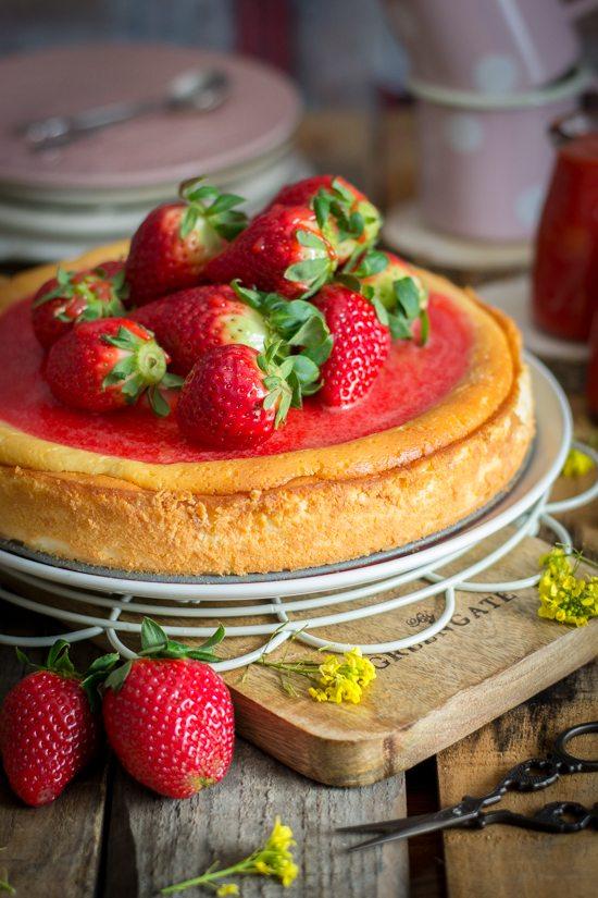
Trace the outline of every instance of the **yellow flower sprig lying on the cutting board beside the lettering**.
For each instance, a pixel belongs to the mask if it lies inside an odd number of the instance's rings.
[[[283,689],[297,694],[285,674],[308,677],[313,684],[308,692],[316,702],[351,702],[359,704],[365,687],[376,678],[376,671],[370,659],[363,657],[361,649],[351,649],[339,655],[326,655],[320,664],[313,661],[269,661],[262,655],[257,662],[264,667],[281,672]]]

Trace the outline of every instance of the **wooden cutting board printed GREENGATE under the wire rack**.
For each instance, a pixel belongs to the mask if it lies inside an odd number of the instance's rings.
[[[493,544],[487,540],[476,546],[466,562],[486,554]],[[548,549],[547,543],[526,538],[479,579],[530,576]],[[462,567],[463,559],[458,564]],[[35,598],[40,599],[39,590]],[[80,603],[76,607],[80,611]],[[432,599],[383,616],[322,628],[317,635],[348,643],[390,641],[416,632],[443,607],[443,601]],[[258,665],[228,673],[225,679],[235,701],[238,731],[321,783],[361,786],[391,776],[453,745],[598,654],[598,620],[570,628],[539,618],[537,607],[535,588],[458,593],[456,613],[437,636],[410,649],[372,656],[377,679],[359,705],[316,703],[300,677],[294,680],[299,696],[292,698],[282,689],[276,672]],[[89,607],[89,612],[97,615],[99,610]],[[180,624],[174,612],[173,605],[173,617],[160,618],[161,623]],[[126,614],[122,619],[139,618]],[[244,623],[259,620],[267,618]],[[207,622],[197,622],[202,623]],[[240,654],[263,642],[263,637],[231,639],[221,653]],[[135,648],[135,639],[129,644]],[[299,642],[270,657],[279,660],[285,651],[287,659],[320,657]]]

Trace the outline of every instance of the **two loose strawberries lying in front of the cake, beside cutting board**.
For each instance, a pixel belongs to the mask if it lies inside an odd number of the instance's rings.
[[[220,628],[187,649],[146,618],[138,659],[104,655],[84,676],[59,640],[0,710],[0,752],[16,795],[35,807],[58,798],[98,753],[102,717],[123,766],[160,795],[188,798],[220,782],[235,740],[228,689],[209,666],[223,636]]]

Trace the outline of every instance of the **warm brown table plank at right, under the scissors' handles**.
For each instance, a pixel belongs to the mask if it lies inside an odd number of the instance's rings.
[[[590,664],[438,755],[440,804],[483,795],[513,764],[543,756],[568,726],[598,718],[598,663]],[[596,738],[571,751],[596,758]],[[536,794],[509,794],[502,804],[530,813],[549,801],[598,800],[598,773],[563,776]],[[596,833],[548,835],[491,826],[445,834],[450,898],[594,898],[598,883]]]

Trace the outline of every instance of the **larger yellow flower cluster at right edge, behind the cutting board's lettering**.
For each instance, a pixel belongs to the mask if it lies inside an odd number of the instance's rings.
[[[538,582],[540,617],[575,627],[585,627],[591,617],[598,617],[598,577],[578,577],[581,562],[591,564],[580,552],[568,554],[561,546],[543,555]]]

